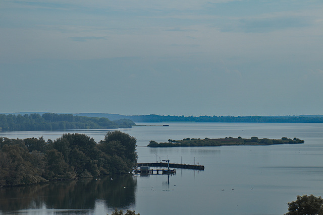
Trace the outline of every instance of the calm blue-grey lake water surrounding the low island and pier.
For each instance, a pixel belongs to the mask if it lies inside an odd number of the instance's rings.
[[[161,125],[162,123],[137,123]],[[322,195],[323,124],[167,123],[120,129],[137,139],[138,162],[170,159],[205,166],[176,175],[113,175],[3,188],[0,214],[111,214],[114,208],[147,214],[284,214],[297,195]],[[9,138],[85,133],[96,141],[108,130],[0,132]],[[183,138],[300,138],[301,145],[148,148]]]

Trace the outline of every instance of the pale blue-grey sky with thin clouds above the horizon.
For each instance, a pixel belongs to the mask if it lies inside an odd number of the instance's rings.
[[[2,0],[0,113],[323,114],[321,0]]]

